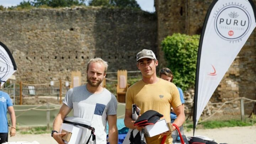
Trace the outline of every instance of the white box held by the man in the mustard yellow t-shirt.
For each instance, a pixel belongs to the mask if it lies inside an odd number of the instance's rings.
[[[145,126],[145,129],[148,137],[154,137],[155,135],[169,131],[165,119],[160,119],[155,124],[149,124]]]

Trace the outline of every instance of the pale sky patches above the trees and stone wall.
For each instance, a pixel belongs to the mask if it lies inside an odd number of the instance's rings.
[[[9,7],[9,6],[16,6],[18,4],[20,4],[20,2],[22,2],[23,0],[0,0],[0,5],[5,6],[5,7]],[[27,1],[27,0],[25,0]],[[33,0],[31,0],[33,1]],[[148,12],[154,12],[155,8],[154,8],[154,0],[136,0],[138,2],[138,4],[140,5],[140,7],[142,8],[142,10],[144,11],[148,11]]]

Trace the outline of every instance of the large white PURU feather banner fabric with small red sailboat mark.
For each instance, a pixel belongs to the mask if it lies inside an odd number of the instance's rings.
[[[248,0],[218,0],[214,5],[202,43],[196,124],[255,24]]]

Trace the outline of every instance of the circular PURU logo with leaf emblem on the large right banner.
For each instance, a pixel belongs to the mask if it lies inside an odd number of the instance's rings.
[[[246,7],[236,2],[222,5],[214,14],[214,28],[226,41],[241,41],[250,29],[251,17]]]

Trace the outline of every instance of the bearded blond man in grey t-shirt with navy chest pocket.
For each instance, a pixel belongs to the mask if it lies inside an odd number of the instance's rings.
[[[63,119],[72,110],[74,117],[84,118],[92,122],[91,127],[95,128],[97,144],[106,144],[106,124],[108,122],[109,142],[117,144],[117,100],[110,91],[100,84],[106,76],[107,62],[101,58],[91,59],[87,63],[87,84],[70,89],[63,100],[63,105],[53,122],[53,138],[64,144],[62,137],[65,133],[59,131]],[[90,144],[93,144],[90,140]]]

